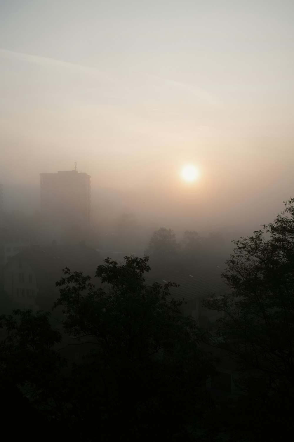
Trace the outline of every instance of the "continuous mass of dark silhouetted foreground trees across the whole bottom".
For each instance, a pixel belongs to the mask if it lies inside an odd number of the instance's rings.
[[[208,329],[182,316],[169,295],[174,283],[146,285],[147,257],[106,259],[97,286],[66,268],[56,283],[56,329],[43,311],[0,316],[2,418],[13,421],[11,437],[241,442],[292,434],[294,199],[234,244],[227,294],[205,301],[223,312]],[[68,336],[83,353],[76,362],[63,354]],[[220,363],[216,347],[235,363],[234,398],[206,388]]]

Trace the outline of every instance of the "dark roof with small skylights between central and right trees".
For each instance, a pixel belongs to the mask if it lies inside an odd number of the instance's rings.
[[[175,282],[179,284],[179,287],[169,289],[171,296],[176,300],[184,298],[185,301],[190,301],[228,290],[224,279],[220,276],[223,269],[223,263],[220,263],[220,265],[211,263],[180,274],[163,275],[162,278],[147,277],[146,284],[149,286],[153,282],[159,282],[160,284]]]

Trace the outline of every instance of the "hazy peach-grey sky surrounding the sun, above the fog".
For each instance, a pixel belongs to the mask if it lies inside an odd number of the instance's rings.
[[[294,196],[293,23],[293,0],[0,0],[0,182],[77,161],[94,206],[271,221]]]

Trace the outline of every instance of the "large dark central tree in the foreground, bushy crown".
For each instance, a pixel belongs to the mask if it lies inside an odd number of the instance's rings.
[[[56,283],[64,330],[93,345],[72,372],[72,425],[81,440],[186,441],[210,404],[214,359],[199,346],[204,332],[171,299],[174,283],[146,286],[149,270],[147,257],[122,265],[108,258],[97,267],[99,288],[69,269]]]

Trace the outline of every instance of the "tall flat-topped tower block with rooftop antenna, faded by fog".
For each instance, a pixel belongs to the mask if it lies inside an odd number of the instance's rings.
[[[40,173],[41,213],[53,231],[72,226],[89,227],[91,216],[91,181],[77,170]]]

